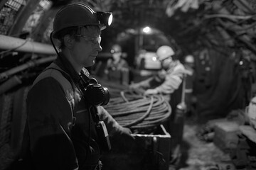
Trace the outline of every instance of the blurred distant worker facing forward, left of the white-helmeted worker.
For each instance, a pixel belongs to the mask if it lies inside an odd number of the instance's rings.
[[[105,69],[107,79],[117,81],[119,84],[128,85],[129,65],[123,58],[124,53],[122,52],[122,47],[118,44],[114,44],[112,45],[110,52],[112,54],[112,58],[107,60],[107,66]]]

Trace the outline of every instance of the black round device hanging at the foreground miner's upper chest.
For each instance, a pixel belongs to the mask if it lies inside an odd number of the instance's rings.
[[[80,76],[80,89],[85,100],[92,106],[105,106],[110,101],[110,92],[107,87],[98,84],[95,78],[90,79],[84,74]]]

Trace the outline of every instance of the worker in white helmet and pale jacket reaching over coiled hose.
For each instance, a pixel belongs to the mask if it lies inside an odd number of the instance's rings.
[[[171,117],[164,125],[171,135],[171,162],[178,164],[181,158],[181,140],[177,140],[183,133],[183,124],[176,127],[176,106],[181,102],[181,92],[184,75],[187,73],[183,64],[175,59],[174,50],[167,46],[161,46],[156,51],[158,60],[161,62],[161,71],[154,77],[131,84],[131,89],[145,89],[144,95],[163,94],[172,108]]]

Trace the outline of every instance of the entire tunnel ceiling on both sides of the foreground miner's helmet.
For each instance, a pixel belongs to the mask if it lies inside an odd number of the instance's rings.
[[[51,7],[41,12],[33,28],[22,30],[35,6],[43,0],[20,0],[23,10],[18,11],[6,35],[49,41],[51,23],[58,8],[71,1],[52,0]],[[47,1],[47,0],[45,0]],[[1,7],[4,6],[1,1]],[[80,2],[80,1],[72,1]],[[151,26],[173,38],[183,51],[193,52],[202,47],[255,50],[255,0],[83,0],[95,11],[112,11],[112,26],[104,31],[105,40],[116,38],[127,28]],[[42,3],[41,3],[42,4]],[[38,12],[38,11],[37,11]],[[39,13],[39,12],[38,12]],[[9,21],[10,18],[9,18]],[[32,20],[33,21],[33,20]],[[35,21],[27,23],[33,23]],[[4,23],[1,16],[1,23]],[[2,33],[3,34],[3,33]],[[104,42],[104,39],[103,39]]]

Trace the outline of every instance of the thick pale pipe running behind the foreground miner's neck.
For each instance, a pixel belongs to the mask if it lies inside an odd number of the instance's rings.
[[[31,40],[23,40],[11,36],[0,35],[0,50],[14,50],[17,52],[31,52],[44,55],[55,55],[52,45]]]

